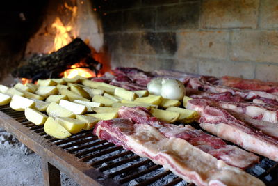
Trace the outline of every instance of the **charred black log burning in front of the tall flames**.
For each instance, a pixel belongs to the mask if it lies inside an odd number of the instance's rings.
[[[101,64],[91,56],[88,45],[80,38],[76,38],[51,54],[35,54],[24,61],[25,65],[20,66],[13,72],[14,77],[32,79],[58,78],[62,73],[76,63],[81,63],[79,68],[89,68],[97,76]]]

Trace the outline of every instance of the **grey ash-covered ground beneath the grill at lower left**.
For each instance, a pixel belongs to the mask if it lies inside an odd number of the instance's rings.
[[[43,185],[40,156],[0,128],[0,183],[1,185]],[[78,185],[61,173],[62,185]]]

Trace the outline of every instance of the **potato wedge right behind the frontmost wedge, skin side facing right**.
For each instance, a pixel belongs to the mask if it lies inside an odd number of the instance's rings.
[[[58,117],[55,119],[56,121],[58,121],[58,123],[60,123],[60,125],[65,127],[65,129],[72,134],[76,134],[80,132],[83,129],[83,127],[86,125],[85,121],[81,121],[79,119],[74,119],[74,118]]]

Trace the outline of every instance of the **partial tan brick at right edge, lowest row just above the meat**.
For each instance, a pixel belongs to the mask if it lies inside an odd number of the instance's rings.
[[[278,82],[278,66],[269,64],[256,65],[256,79]]]

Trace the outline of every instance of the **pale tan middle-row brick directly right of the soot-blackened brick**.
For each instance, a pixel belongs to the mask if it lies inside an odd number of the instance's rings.
[[[227,31],[190,31],[178,35],[179,59],[226,59],[229,34]]]

